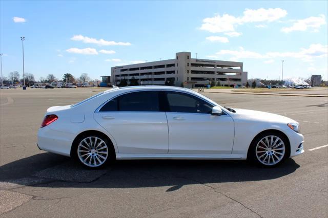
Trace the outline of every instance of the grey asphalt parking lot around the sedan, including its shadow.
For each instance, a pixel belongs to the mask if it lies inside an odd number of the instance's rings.
[[[247,161],[117,161],[100,170],[39,150],[46,109],[98,89],[0,91],[1,217],[327,217],[328,97],[205,93],[223,106],[298,121],[305,152],[277,168]]]

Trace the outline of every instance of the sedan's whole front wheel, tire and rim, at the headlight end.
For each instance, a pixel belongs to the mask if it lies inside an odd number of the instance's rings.
[[[282,163],[289,154],[289,144],[281,133],[260,134],[253,140],[249,158],[256,164],[273,167]]]

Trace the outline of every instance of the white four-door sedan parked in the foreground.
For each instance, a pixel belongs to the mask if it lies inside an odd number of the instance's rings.
[[[304,152],[295,120],[225,108],[172,86],[114,88],[50,107],[37,138],[40,149],[91,168],[115,159],[248,159],[275,166]]]

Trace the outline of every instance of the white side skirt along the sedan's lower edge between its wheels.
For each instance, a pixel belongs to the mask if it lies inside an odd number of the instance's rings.
[[[137,159],[187,159],[187,160],[246,160],[247,155],[181,155],[181,154],[122,154],[116,153],[117,160]]]

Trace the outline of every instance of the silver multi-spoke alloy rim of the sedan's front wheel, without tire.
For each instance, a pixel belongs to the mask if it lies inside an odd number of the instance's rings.
[[[265,136],[256,145],[256,157],[264,165],[279,163],[285,154],[285,144],[277,136]]]

